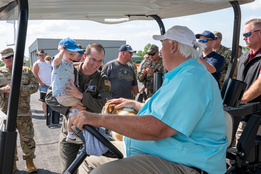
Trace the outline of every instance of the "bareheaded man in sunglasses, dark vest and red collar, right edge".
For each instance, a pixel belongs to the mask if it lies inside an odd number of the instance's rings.
[[[261,19],[251,19],[247,21],[245,23],[243,36],[246,46],[251,50],[240,56],[238,60],[237,79],[247,83],[241,103],[261,103]],[[261,111],[255,114],[261,115]],[[236,132],[236,139],[239,139],[250,116],[251,115],[242,117]],[[261,126],[257,134],[261,135]]]

